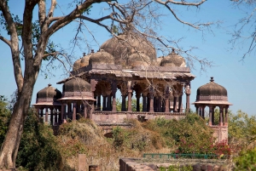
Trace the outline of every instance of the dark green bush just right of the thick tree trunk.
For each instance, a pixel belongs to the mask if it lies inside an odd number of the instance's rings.
[[[20,140],[16,167],[27,170],[61,170],[63,162],[52,128],[39,123],[38,116],[29,111]]]

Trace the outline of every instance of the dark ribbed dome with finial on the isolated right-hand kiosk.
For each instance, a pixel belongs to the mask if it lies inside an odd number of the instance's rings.
[[[202,85],[200,88],[197,89],[196,99],[198,99],[200,96],[228,96],[226,88],[224,88],[221,85],[218,85],[218,83],[214,83],[213,77],[211,77],[210,81],[210,83]],[[218,98],[214,100],[218,100]]]

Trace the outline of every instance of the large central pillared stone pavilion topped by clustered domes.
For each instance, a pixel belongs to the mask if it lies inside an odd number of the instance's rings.
[[[64,84],[61,116],[74,118],[76,112],[83,111],[81,101],[88,100],[90,115],[86,117],[96,123],[123,123],[125,118],[184,117],[183,94],[186,94],[185,108],[189,111],[190,81],[195,78],[175,49],[171,54],[157,58],[153,44],[132,31],[110,38],[97,52],[92,50],[90,54],[84,54],[74,63],[71,73],[59,82]],[[77,79],[86,81],[86,94],[79,94],[76,88],[70,88],[67,93],[66,84]],[[85,84],[81,81],[79,85]],[[116,107],[118,90],[121,111]],[[72,91],[77,95],[67,98]],[[132,111],[132,96],[137,100],[136,111]],[[74,106],[79,106],[79,110],[75,111]]]

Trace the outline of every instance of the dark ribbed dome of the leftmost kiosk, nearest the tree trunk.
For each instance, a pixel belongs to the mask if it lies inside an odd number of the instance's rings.
[[[48,84],[48,87],[38,91],[37,101],[55,101],[61,99],[61,95],[61,91]]]

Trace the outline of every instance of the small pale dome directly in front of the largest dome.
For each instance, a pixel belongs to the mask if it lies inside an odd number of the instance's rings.
[[[128,66],[148,66],[150,63],[148,55],[140,52],[131,54],[127,60]]]

